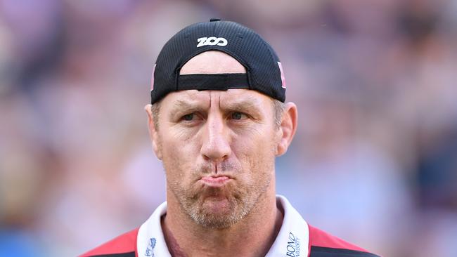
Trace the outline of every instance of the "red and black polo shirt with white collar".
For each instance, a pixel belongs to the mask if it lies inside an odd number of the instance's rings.
[[[359,246],[314,228],[288,199],[276,196],[284,211],[283,224],[266,257],[375,257]],[[139,228],[120,235],[81,257],[171,257],[160,225],[167,202],[160,204]]]

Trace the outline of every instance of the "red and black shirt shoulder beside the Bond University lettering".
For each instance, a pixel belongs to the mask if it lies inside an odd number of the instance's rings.
[[[343,239],[309,227],[309,257],[379,257]]]

